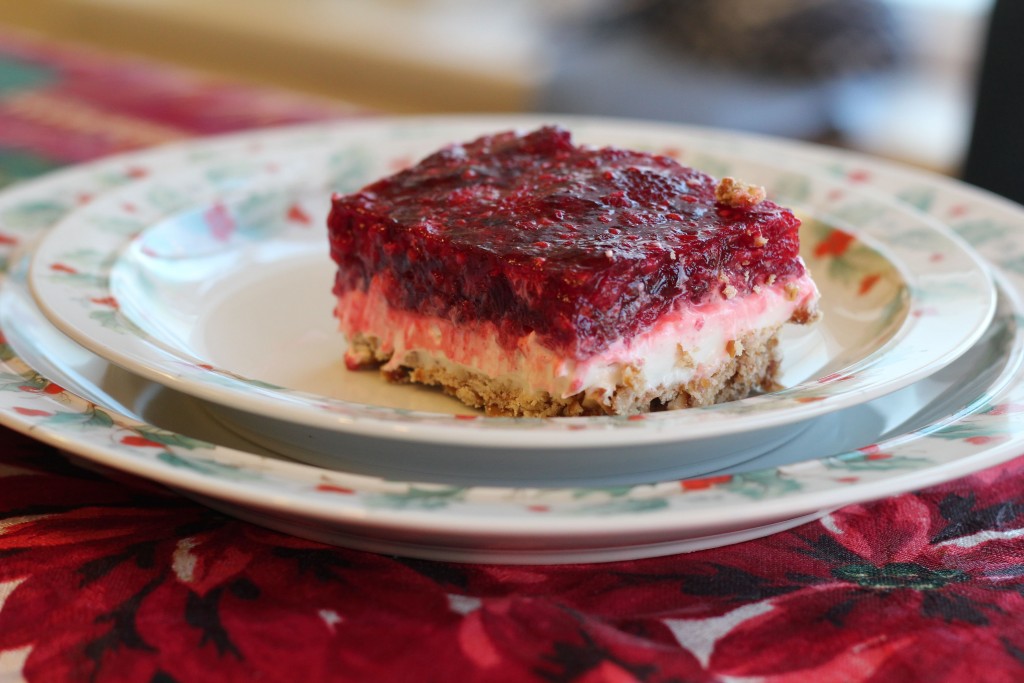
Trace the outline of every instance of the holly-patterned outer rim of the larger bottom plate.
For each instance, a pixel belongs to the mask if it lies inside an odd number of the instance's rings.
[[[643,124],[637,124],[643,126]],[[328,126],[330,128],[330,126]],[[295,139],[323,127],[295,130]],[[274,133],[281,135],[282,133]],[[861,157],[720,131],[724,146],[815,165],[844,182],[872,184],[952,223],[1000,266],[1013,310],[1024,288],[1024,212],[963,184]],[[123,157],[0,194],[0,254],[40,234],[95,194],[101,177],[126,181],[160,154],[180,167],[215,145],[259,144],[266,133],[203,140]],[[173,163],[172,163],[173,162]],[[999,319],[1016,321],[1019,313]],[[6,345],[0,421],[88,460],[132,472],[232,514],[356,548],[451,560],[552,562],[642,557],[770,532],[821,511],[925,486],[1013,458],[1024,446],[1024,374],[1015,324],[991,360],[996,377],[963,410],[855,451],[825,446],[802,462],[621,487],[507,488],[386,481],[286,463],[188,438],[85,401],[49,383]],[[982,362],[979,367],[985,367]],[[931,381],[931,378],[928,380]],[[913,388],[913,387],[909,387]],[[931,418],[930,418],[931,419]]]

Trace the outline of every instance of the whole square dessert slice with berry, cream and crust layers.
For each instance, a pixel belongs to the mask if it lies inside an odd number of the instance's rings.
[[[818,315],[799,225],[760,187],[557,127],[452,144],[332,198],[345,361],[489,415],[741,398]]]

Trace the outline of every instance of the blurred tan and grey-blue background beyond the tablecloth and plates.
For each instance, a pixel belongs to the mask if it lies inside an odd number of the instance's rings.
[[[1019,0],[1018,0],[1019,2]],[[0,24],[395,113],[642,117],[963,168],[993,0],[0,0]]]

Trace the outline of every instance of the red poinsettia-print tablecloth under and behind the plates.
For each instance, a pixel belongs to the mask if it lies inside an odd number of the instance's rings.
[[[0,30],[0,183],[347,117]],[[0,681],[1020,681],[1024,461],[727,548],[600,565],[303,541],[0,428]]]

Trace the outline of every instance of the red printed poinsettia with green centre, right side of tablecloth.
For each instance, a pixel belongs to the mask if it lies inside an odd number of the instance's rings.
[[[902,496],[755,544],[770,550],[709,553],[723,561],[688,574],[683,590],[749,610],[715,642],[709,668],[787,682],[1019,681],[1022,512]]]

